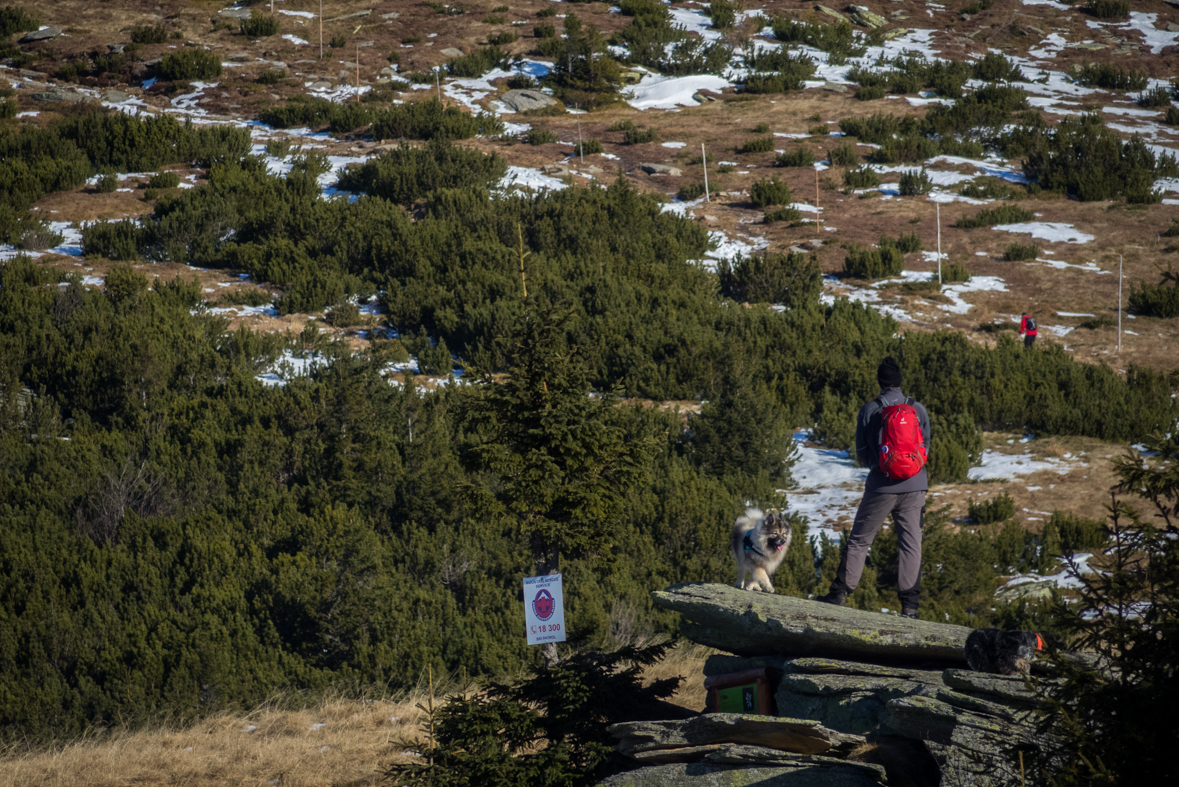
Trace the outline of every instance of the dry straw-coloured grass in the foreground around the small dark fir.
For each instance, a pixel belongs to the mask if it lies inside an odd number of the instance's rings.
[[[687,677],[672,702],[699,710],[702,669],[712,653],[680,643],[646,677]],[[435,703],[453,688],[437,688]],[[296,710],[271,702],[190,726],[162,723],[46,748],[13,748],[0,755],[0,787],[376,785],[390,762],[414,756],[400,741],[421,738],[419,706],[428,695],[419,687],[397,700],[329,699]]]

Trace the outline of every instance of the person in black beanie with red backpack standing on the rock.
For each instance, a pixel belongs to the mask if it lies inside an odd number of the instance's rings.
[[[921,523],[929,475],[929,414],[901,392],[901,366],[891,357],[876,370],[881,395],[859,409],[856,418],[856,457],[869,468],[864,496],[851,534],[844,540],[839,569],[826,595],[818,601],[847,603],[859,584],[868,549],[889,514],[896,524],[900,550],[897,595],[902,617],[917,616],[921,596]]]

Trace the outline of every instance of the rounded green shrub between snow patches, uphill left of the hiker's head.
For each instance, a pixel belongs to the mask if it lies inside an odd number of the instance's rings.
[[[755,254],[717,266],[720,292],[738,303],[772,303],[802,307],[818,303],[823,270],[818,259],[798,252]]]

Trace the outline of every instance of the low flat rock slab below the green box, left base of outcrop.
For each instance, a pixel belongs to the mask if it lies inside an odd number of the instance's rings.
[[[817,721],[705,713],[674,721],[630,721],[606,728],[628,756],[657,749],[739,743],[795,754],[845,753],[864,742],[858,735],[828,729]]]

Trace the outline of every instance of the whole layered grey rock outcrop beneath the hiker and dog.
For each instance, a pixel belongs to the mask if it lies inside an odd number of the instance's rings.
[[[777,717],[615,725],[638,767],[604,787],[1017,783],[1020,754],[1043,743],[1045,701],[1022,676],[966,668],[970,629],[719,584],[653,596],[685,636],[726,652],[705,675],[780,675]]]

